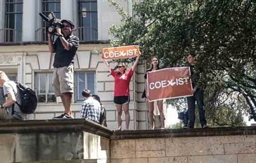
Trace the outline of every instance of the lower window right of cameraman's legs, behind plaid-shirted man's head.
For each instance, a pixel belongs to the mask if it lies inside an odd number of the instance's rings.
[[[76,101],[84,101],[82,90],[89,89],[93,94],[95,91],[95,72],[76,72]]]

